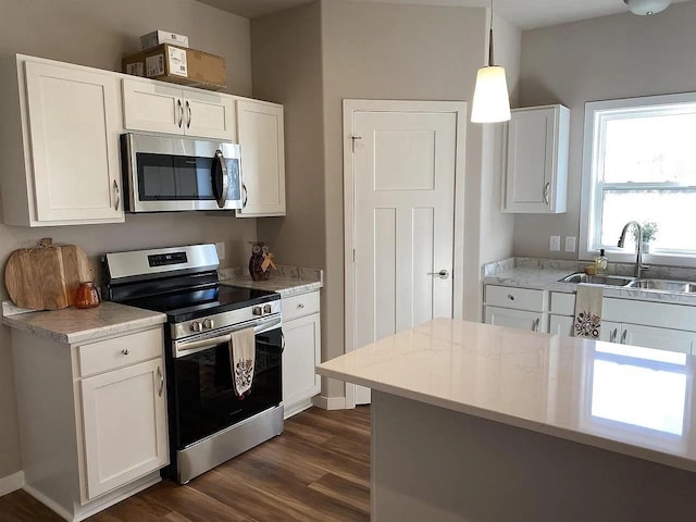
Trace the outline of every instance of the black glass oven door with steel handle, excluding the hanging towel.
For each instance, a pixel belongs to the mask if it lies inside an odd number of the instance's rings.
[[[249,395],[239,398],[233,384],[229,339],[233,331],[249,326],[254,326],[254,373]],[[207,338],[174,341],[170,373],[172,449],[184,449],[278,406],[283,394],[282,352],[279,316],[213,332]]]

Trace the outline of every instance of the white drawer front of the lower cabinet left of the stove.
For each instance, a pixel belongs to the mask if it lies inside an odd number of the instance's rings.
[[[162,357],[162,327],[77,347],[82,377]]]

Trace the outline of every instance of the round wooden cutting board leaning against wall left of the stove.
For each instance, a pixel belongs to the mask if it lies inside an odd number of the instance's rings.
[[[85,251],[75,245],[52,245],[50,239],[41,239],[36,248],[15,250],[4,269],[10,299],[32,310],[70,307],[83,281],[95,281]]]

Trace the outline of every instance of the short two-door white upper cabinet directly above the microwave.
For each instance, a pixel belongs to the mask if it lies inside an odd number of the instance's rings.
[[[237,140],[235,98],[229,95],[124,78],[123,107],[127,130]]]

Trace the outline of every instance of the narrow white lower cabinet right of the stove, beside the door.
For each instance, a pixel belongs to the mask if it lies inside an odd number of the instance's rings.
[[[312,406],[321,391],[314,368],[321,362],[319,291],[283,298],[283,403],[285,418]]]

